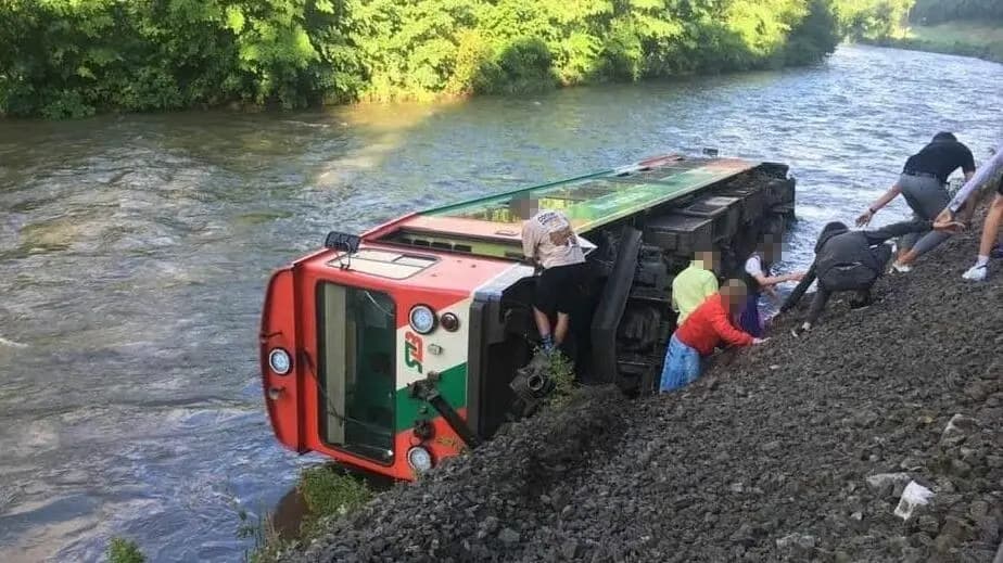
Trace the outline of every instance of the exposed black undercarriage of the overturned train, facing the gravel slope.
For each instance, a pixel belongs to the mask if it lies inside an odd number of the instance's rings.
[[[670,209],[653,209],[584,233],[596,249],[587,259],[589,276],[582,280],[585,303],[572,315],[571,335],[562,346],[574,362],[579,383],[613,383],[632,396],[653,393],[675,329],[674,276],[689,265],[698,248],[719,254],[719,278],[736,274],[758,241],[766,234],[784,234],[793,220],[793,197],[795,179],[787,177],[787,167],[763,165],[674,202]],[[479,348],[488,372],[483,380],[495,388],[480,394],[492,399],[478,406],[483,409],[475,417],[482,422],[479,434],[490,435],[504,421],[532,412],[549,389],[547,364],[534,355],[538,342],[530,305],[534,286],[534,279],[522,280],[507,289],[500,300],[481,304]],[[499,400],[506,394],[511,400]]]

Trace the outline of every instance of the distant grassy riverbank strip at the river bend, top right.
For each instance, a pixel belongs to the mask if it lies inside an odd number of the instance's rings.
[[[1003,24],[992,22],[951,22],[934,26],[910,27],[902,37],[887,38],[875,44],[974,56],[1003,63]]]

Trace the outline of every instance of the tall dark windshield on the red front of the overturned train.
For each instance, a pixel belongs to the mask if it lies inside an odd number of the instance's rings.
[[[328,445],[394,460],[394,302],[385,293],[320,283],[320,432]]]

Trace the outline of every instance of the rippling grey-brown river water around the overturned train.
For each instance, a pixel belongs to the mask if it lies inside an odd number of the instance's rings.
[[[331,228],[714,146],[792,166],[803,264],[936,131],[985,158],[1001,84],[991,63],[843,47],[522,99],[0,121],[0,561],[93,561],[114,535],[152,561],[242,558],[239,512],[317,461],[265,420],[264,284]]]

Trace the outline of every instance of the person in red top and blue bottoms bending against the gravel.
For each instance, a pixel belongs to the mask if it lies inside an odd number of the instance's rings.
[[[713,354],[720,344],[751,346],[765,342],[735,327],[733,318],[741,312],[748,291],[741,280],[728,280],[683,321],[669,340],[662,380],[662,393],[677,389],[700,376],[700,360]]]

